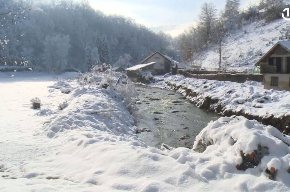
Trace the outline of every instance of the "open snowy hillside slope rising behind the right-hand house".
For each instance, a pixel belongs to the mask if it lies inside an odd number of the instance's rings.
[[[270,23],[258,20],[231,31],[224,39],[222,62],[238,71],[252,69],[254,63],[266,53],[279,39],[289,38],[290,21],[278,19]],[[287,33],[288,31],[288,33]],[[194,60],[201,60],[206,69],[218,68],[219,53],[217,45],[210,46],[198,54]]]

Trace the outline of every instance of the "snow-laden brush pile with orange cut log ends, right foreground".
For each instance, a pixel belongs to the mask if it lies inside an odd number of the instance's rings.
[[[232,116],[209,123],[196,136],[193,149],[203,148],[203,154],[218,152],[239,170],[252,168],[251,173],[262,172],[270,179],[281,179],[289,174],[289,146],[290,136],[273,126]]]

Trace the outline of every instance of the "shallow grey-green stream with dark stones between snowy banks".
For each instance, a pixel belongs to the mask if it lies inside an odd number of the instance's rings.
[[[218,115],[199,109],[173,91],[137,86],[141,104],[133,113],[139,137],[151,147],[164,142],[171,147],[192,148],[196,135]],[[156,99],[156,100],[155,100]],[[158,100],[159,99],[159,100]],[[149,131],[150,130],[150,131]]]

